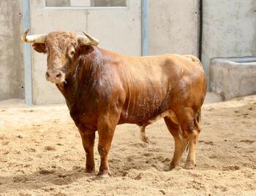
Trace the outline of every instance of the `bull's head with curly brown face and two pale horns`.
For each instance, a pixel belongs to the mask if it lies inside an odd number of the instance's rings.
[[[98,45],[99,41],[83,32],[84,36],[75,32],[56,31],[50,34],[28,35],[29,29],[21,36],[23,42],[33,43],[33,48],[39,53],[47,54],[48,70],[45,73],[46,80],[52,83],[63,83],[66,74],[80,53],[90,53],[92,45]]]

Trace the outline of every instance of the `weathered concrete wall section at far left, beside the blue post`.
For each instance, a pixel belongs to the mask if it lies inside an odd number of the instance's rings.
[[[0,1],[0,100],[24,97],[22,2]]]

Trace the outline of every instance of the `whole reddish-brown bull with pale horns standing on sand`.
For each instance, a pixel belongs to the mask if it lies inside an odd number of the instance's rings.
[[[200,108],[206,76],[195,56],[130,57],[98,48],[97,39],[73,32],[27,36],[33,48],[47,53],[46,79],[64,95],[86,151],[86,172],[94,170],[94,139],[99,134],[99,176],[109,174],[108,154],[117,124],[145,127],[158,118],[175,140],[170,169],[189,149],[185,168],[195,166]]]

